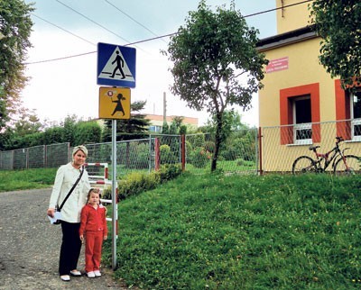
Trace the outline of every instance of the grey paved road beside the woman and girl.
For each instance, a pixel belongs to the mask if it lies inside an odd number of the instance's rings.
[[[0,289],[126,289],[112,279],[112,269],[103,268],[99,278],[60,280],[61,229],[46,217],[50,194],[51,189],[0,193]]]

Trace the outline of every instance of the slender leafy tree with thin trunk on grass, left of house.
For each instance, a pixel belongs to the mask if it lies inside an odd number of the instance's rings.
[[[185,26],[171,38],[172,93],[192,109],[206,108],[217,121],[211,171],[217,168],[225,109],[249,108],[252,94],[263,87],[260,81],[268,61],[256,50],[257,33],[235,10],[234,1],[229,10],[221,6],[213,13],[201,0],[198,11],[190,12]]]

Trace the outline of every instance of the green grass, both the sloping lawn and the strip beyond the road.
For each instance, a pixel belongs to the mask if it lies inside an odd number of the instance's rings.
[[[55,176],[27,171],[0,171],[0,185]],[[359,289],[360,186],[326,174],[185,173],[118,204],[115,276],[144,289]]]

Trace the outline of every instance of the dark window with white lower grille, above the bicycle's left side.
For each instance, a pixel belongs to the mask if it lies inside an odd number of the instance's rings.
[[[293,143],[312,143],[312,119],[310,112],[310,95],[293,99]]]

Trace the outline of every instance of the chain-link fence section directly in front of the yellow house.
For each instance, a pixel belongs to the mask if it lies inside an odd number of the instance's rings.
[[[292,164],[301,155],[317,159],[310,146],[319,146],[319,153],[335,147],[336,137],[342,137],[340,149],[345,154],[361,156],[361,131],[352,120],[340,122],[315,122],[307,126],[275,126],[262,128],[262,170],[264,172],[292,172]],[[327,171],[332,170],[332,163]]]

